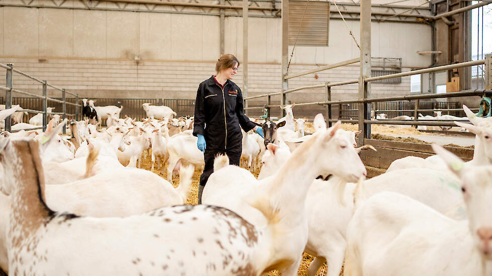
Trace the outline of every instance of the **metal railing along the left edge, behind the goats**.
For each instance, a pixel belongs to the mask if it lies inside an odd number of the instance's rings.
[[[23,94],[23,95],[27,95],[27,96],[30,96],[32,98],[38,98],[38,99],[42,99],[42,110],[36,110],[36,109],[19,109],[17,110],[17,112],[29,112],[29,113],[42,113],[43,114],[43,125],[42,126],[39,126],[39,127],[33,127],[33,128],[27,128],[27,129],[24,129],[24,130],[34,130],[34,129],[43,129],[43,131],[46,131],[46,126],[47,126],[47,120],[48,120],[48,115],[54,115],[54,114],[58,114],[58,115],[61,115],[62,116],[62,119],[65,119],[67,116],[70,116],[70,117],[78,117],[78,111],[79,111],[79,108],[77,107],[80,107],[80,105],[77,103],[78,102],[78,95],[77,94],[74,94],[74,93],[71,93],[71,92],[68,92],[66,91],[66,89],[64,88],[58,88],[52,84],[48,84],[48,82],[46,80],[39,80],[38,78],[36,77],[33,77],[27,73],[24,73],[22,71],[19,71],[17,69],[14,69],[14,64],[0,64],[0,67],[4,68],[7,70],[7,81],[6,81],[6,86],[0,86],[0,90],[4,90],[5,91],[5,108],[6,109],[9,109],[9,108],[12,108],[12,103],[13,103],[13,97],[12,97],[12,94],[13,93],[18,93],[18,94]],[[22,90],[19,90],[19,89],[14,89],[13,88],[13,73],[17,73],[17,74],[20,74],[24,77],[27,77],[27,78],[30,78],[36,82],[39,82],[42,84],[42,93],[43,95],[38,95],[38,94],[34,94],[34,93],[30,93],[30,92],[26,92],[26,91],[22,91]],[[55,98],[51,98],[51,97],[48,97],[48,87],[50,88],[53,88],[55,90],[58,90],[61,92],[61,99],[55,99]],[[72,103],[72,102],[67,102],[66,100],[66,94],[70,94],[70,95],[73,95],[76,97],[76,101],[75,103]],[[61,106],[62,106],[62,111],[61,112],[48,112],[47,111],[47,107],[48,107],[48,101],[51,101],[51,102],[56,102],[56,103],[60,103]],[[69,104],[69,105],[73,105],[75,106],[75,113],[67,113],[66,112],[66,105]],[[65,127],[62,128],[63,130],[63,134],[65,133]],[[16,131],[19,131],[20,129],[18,130],[12,130],[12,118],[11,116],[8,116],[6,119],[5,119],[5,130],[7,131],[10,131],[10,132],[16,132]]]

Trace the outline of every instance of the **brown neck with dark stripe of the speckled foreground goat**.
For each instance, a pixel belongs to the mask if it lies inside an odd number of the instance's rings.
[[[49,222],[54,212],[45,203],[38,143],[33,140],[11,141],[1,159],[5,168],[4,188],[8,187],[7,193],[11,196],[8,240],[13,247],[19,248],[32,233]]]

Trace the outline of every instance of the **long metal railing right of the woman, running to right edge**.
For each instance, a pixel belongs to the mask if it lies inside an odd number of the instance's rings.
[[[354,61],[354,60],[351,60]],[[326,69],[332,69],[336,68],[339,66],[351,64],[349,63],[350,61],[345,61],[338,63],[338,66],[324,66]],[[368,82],[370,81],[376,81],[376,80],[383,80],[383,79],[390,79],[390,78],[396,78],[396,77],[403,77],[403,76],[412,76],[412,75],[417,75],[417,74],[423,74],[423,73],[430,73],[430,72],[438,72],[438,71],[446,71],[446,70],[451,70],[451,69],[457,69],[457,68],[463,68],[463,67],[470,67],[470,66],[475,66],[475,65],[482,65],[485,64],[486,72],[487,75],[485,76],[485,89],[482,90],[465,90],[465,91],[459,91],[459,92],[449,92],[445,94],[419,94],[419,95],[402,95],[402,96],[389,96],[389,97],[374,97],[374,98],[359,98],[359,99],[353,99],[353,100],[339,100],[339,101],[332,101],[331,100],[331,87],[333,86],[338,86],[338,85],[345,85],[345,84],[353,84],[353,83],[359,83],[359,85],[362,85],[364,88],[363,89],[368,89]],[[302,72],[300,74],[293,74],[290,76],[285,76],[286,77],[293,77],[293,76],[300,76],[303,74],[309,74],[311,72],[317,72],[320,71],[321,67],[309,71]],[[316,71],[317,70],[317,71]],[[321,69],[325,70],[325,69]],[[326,90],[326,101],[317,101],[317,102],[306,102],[306,103],[296,103],[296,106],[302,106],[302,105],[325,105],[326,106],[326,116],[327,116],[327,121],[331,125],[332,122],[336,122],[339,119],[332,119],[332,114],[331,114],[331,106],[332,105],[340,105],[340,104],[347,104],[347,103],[358,103],[360,104],[359,108],[362,107],[364,110],[364,116],[359,117],[358,119],[343,119],[341,120],[342,122],[350,122],[350,123],[359,123],[359,128],[361,128],[365,131],[363,131],[363,134],[361,135],[362,137],[359,138],[360,144],[363,144],[364,139],[367,137],[370,137],[370,127],[368,125],[370,124],[401,124],[401,125],[433,125],[433,126],[455,126],[455,124],[452,121],[443,121],[443,120],[419,120],[418,119],[418,112],[422,111],[423,109],[419,109],[419,100],[421,99],[436,99],[436,98],[451,98],[451,97],[467,97],[467,96],[492,96],[492,54],[486,55],[485,59],[482,60],[476,60],[476,61],[467,61],[467,62],[461,62],[461,63],[455,63],[455,64],[449,64],[449,65],[443,65],[443,66],[436,66],[436,67],[431,67],[431,68],[425,68],[425,69],[420,69],[420,70],[414,70],[414,71],[408,71],[408,72],[402,72],[402,73],[396,73],[396,74],[388,74],[388,75],[383,75],[383,76],[377,76],[377,77],[368,77],[364,78],[362,81],[361,80],[353,80],[353,81],[344,81],[344,82],[335,82],[335,83],[330,83],[330,82],[325,82],[324,84],[318,84],[318,85],[309,85],[309,86],[303,86],[303,87],[298,87],[294,89],[289,89],[281,92],[275,92],[275,93],[269,93],[269,94],[263,94],[263,95],[258,95],[258,96],[252,96],[252,97],[247,97],[244,98],[244,100],[250,100],[254,98],[259,98],[259,97],[268,97],[267,104],[264,106],[252,106],[248,107],[245,109],[262,109],[265,108],[270,114],[270,108],[271,107],[278,107],[278,105],[272,105],[271,104],[271,96],[273,95],[285,95],[287,93],[291,93],[294,91],[299,91],[303,89],[309,89],[309,88],[319,88],[319,87],[325,87]],[[398,101],[398,100],[403,100],[403,101],[410,101],[414,100],[415,101],[415,108],[413,110],[409,111],[414,111],[414,120],[413,121],[408,121],[408,120],[391,120],[391,119],[386,119],[386,120],[371,120],[370,119],[370,104],[371,103],[376,103],[376,102],[384,102],[384,101]],[[357,109],[359,110],[359,109]],[[425,111],[430,111],[429,109],[424,109]],[[448,108],[448,109],[437,109],[437,110],[453,110],[453,111],[461,111],[463,110],[462,108]],[[407,110],[405,110],[407,111]]]

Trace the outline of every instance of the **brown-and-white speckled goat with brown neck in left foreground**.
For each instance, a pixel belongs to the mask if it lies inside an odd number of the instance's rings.
[[[11,271],[75,275],[94,267],[99,275],[259,276],[281,260],[275,254],[280,235],[275,213],[267,226],[257,228],[232,211],[204,205],[163,207],[123,218],[54,212],[43,196],[37,147],[33,141],[0,142],[7,179],[0,191],[10,195],[11,206]]]

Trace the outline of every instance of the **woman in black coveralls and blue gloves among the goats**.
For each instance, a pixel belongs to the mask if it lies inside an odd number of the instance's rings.
[[[198,186],[199,204],[203,187],[213,173],[217,154],[227,154],[230,164],[239,166],[241,128],[244,131],[255,129],[263,137],[263,129],[244,114],[241,89],[231,81],[238,67],[239,61],[235,56],[222,55],[215,64],[217,75],[198,86],[193,135],[198,137],[198,149],[204,152],[205,157],[205,168]]]

